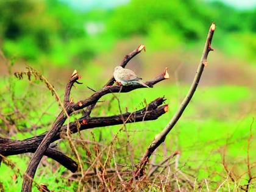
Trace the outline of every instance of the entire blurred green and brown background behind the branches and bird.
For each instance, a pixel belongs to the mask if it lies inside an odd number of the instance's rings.
[[[130,111],[141,108],[144,98],[150,102],[165,95],[166,102],[170,104],[168,114],[157,121],[129,125],[133,144],[139,146],[135,149],[135,160],[140,158],[154,135],[165,127],[187,93],[201,59],[208,28],[215,21],[216,32],[212,42],[215,52],[210,52],[199,88],[180,122],[166,138],[166,145],[168,152],[180,150],[180,161],[185,171],[199,168],[195,176],[198,180],[207,178],[210,183],[212,181],[213,189],[227,176],[221,165],[224,146],[230,166],[237,166],[237,175],[246,169],[247,137],[256,114],[254,1],[251,4],[249,1],[225,4],[196,0],[13,0],[0,1],[0,13],[0,47],[12,63],[12,71],[24,71],[26,65],[34,67],[57,87],[61,96],[74,69],[83,76],[81,81],[84,83],[73,91],[74,99],[91,94],[86,86],[98,90],[112,76],[113,68],[119,65],[124,55],[139,44],[146,45],[146,52],[132,59],[127,68],[148,80],[168,67],[170,79],[155,85],[154,91],[143,89],[120,95],[121,106],[128,107]],[[7,93],[12,90],[16,98],[33,98],[30,101],[35,110],[30,113],[30,122],[25,124],[38,123],[38,115],[54,102],[54,98],[43,85],[12,79],[9,73],[10,67],[1,57],[1,113],[7,114],[11,110],[4,102],[19,102],[18,99],[12,100]],[[12,87],[7,86],[10,82]],[[34,93],[30,93],[31,90]],[[103,100],[108,99],[111,96],[105,96]],[[43,109],[36,107],[38,102]],[[21,109],[26,107],[17,105]],[[107,104],[102,105],[101,110],[93,112],[94,115],[118,113],[115,105],[111,108],[106,107]],[[40,123],[54,121],[56,111],[57,104],[53,104]],[[251,127],[255,133],[255,123]],[[112,130],[115,132],[117,129],[118,126]],[[48,126],[32,134],[12,135],[12,138],[26,138],[45,130]],[[101,130],[107,138],[110,129]],[[97,134],[99,130],[94,132]],[[1,136],[8,137],[4,133]],[[251,148],[255,147],[255,140],[252,140]],[[251,152],[251,158],[255,163],[255,151]],[[20,163],[21,169],[26,169],[27,160],[25,158]],[[1,169],[10,171],[7,167]],[[48,174],[52,174],[51,171]],[[12,179],[4,179],[1,175],[0,180],[8,186]],[[245,179],[241,182],[246,182]],[[47,182],[43,177],[38,180]],[[56,185],[62,187],[61,183]],[[17,185],[12,187],[15,191]]]

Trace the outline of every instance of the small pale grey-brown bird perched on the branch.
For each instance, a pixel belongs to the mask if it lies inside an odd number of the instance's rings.
[[[143,85],[144,87],[148,87],[148,85],[144,84],[141,78],[137,77],[137,75],[132,70],[124,69],[122,66],[116,66],[113,75],[118,84],[122,84],[122,85],[140,84],[140,85]]]

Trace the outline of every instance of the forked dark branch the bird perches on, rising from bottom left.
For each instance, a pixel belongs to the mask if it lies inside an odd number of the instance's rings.
[[[144,49],[144,46],[141,45],[137,48],[137,50],[135,50],[131,54],[127,55],[127,57],[123,60],[122,65],[125,66],[127,64],[127,62],[129,62],[129,60],[132,59],[132,57],[137,55],[143,49]],[[155,79],[152,79],[152,80],[146,82],[146,84],[149,87],[153,87],[154,84],[157,84],[161,80],[168,79],[168,78],[169,78],[168,72],[167,72],[167,70],[165,70],[165,72],[163,74],[160,74],[160,76],[155,77]],[[84,100],[79,101],[76,104],[74,104],[73,99],[72,98],[70,99],[69,96],[70,96],[71,88],[73,87],[74,82],[77,82],[77,79],[79,79],[79,76],[77,74],[77,71],[75,70],[73,75],[71,76],[71,79],[69,79],[69,82],[66,85],[65,96],[64,96],[64,105],[60,102],[60,105],[62,106],[62,112],[60,112],[57,119],[55,119],[54,124],[52,124],[51,129],[46,133],[45,137],[43,138],[43,140],[41,141],[37,150],[35,151],[34,156],[30,160],[29,166],[27,167],[27,171],[24,176],[22,191],[28,191],[28,192],[31,191],[32,179],[35,176],[35,171],[37,170],[37,167],[40,163],[41,158],[43,157],[44,153],[48,149],[49,144],[51,144],[52,139],[60,131],[60,128],[63,126],[66,119],[67,118],[69,119],[69,115],[71,113],[73,113],[76,110],[80,110],[84,107],[88,107],[89,105],[95,105],[96,102],[105,94],[117,93],[117,92],[126,93],[126,92],[132,91],[136,88],[144,88],[142,85],[130,85],[130,86],[124,86],[124,87],[123,86],[122,87],[119,87],[119,86],[104,87],[101,90],[94,93],[93,95],[91,95],[89,98],[84,99]],[[112,78],[112,80],[113,80],[113,78]],[[110,82],[112,82],[112,80],[110,80]],[[108,83],[110,84],[110,82],[108,82]],[[48,83],[48,85],[49,85],[49,83]],[[57,93],[55,94],[55,96],[57,97],[57,100],[60,101],[59,96],[57,96]],[[93,106],[92,106],[92,108],[93,108]],[[88,111],[88,114],[90,114],[90,110]],[[69,120],[68,120],[68,122],[69,122]],[[67,128],[69,128],[69,123],[68,123]]]

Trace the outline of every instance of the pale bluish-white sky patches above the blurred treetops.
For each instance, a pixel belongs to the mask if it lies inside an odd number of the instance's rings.
[[[90,10],[94,8],[112,8],[126,4],[129,0],[61,0],[80,10]],[[205,0],[215,1],[215,0]],[[232,5],[236,9],[253,9],[256,7],[256,0],[218,0]],[[146,3],[146,1],[145,1]]]

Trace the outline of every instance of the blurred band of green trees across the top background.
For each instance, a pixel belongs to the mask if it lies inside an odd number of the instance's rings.
[[[13,0],[1,1],[0,12],[5,54],[37,65],[80,65],[108,51],[116,40],[132,36],[149,37],[156,48],[162,48],[159,42],[163,41],[173,48],[193,44],[205,38],[212,21],[222,34],[215,40],[222,51],[229,53],[232,47],[232,56],[255,63],[256,9],[236,10],[221,2],[194,0],[132,0],[115,9],[83,13],[58,0]],[[99,32],[90,34],[88,24]]]

